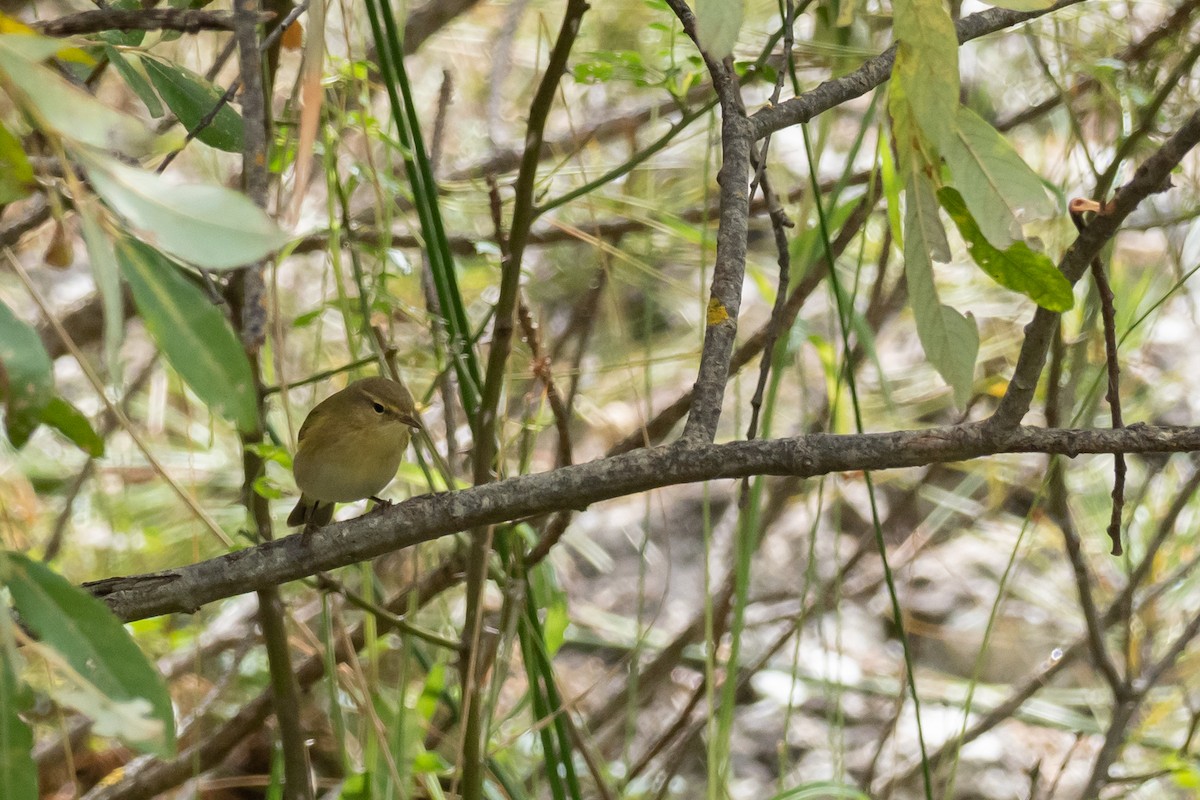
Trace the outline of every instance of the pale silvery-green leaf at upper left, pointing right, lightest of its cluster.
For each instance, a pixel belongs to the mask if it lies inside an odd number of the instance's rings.
[[[77,155],[96,193],[155,247],[210,270],[251,264],[288,241],[246,196],[222,186],[179,186],[94,150]]]

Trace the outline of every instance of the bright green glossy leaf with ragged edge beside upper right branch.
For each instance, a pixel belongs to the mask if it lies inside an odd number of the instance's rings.
[[[1022,241],[1006,249],[994,247],[980,233],[961,194],[947,186],[938,190],[937,199],[962,234],[971,258],[996,283],[1020,291],[1049,311],[1063,312],[1075,305],[1070,282],[1044,253],[1031,249]]]

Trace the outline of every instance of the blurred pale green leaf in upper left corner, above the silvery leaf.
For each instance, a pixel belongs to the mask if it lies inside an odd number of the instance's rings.
[[[46,40],[38,47],[36,41],[24,41],[31,38],[35,37],[0,35],[0,72],[7,76],[7,84],[19,92],[19,97],[13,100],[25,107],[40,125],[74,142],[130,156],[144,155],[154,149],[157,137],[140,120],[106,106],[40,64],[61,48],[60,42]],[[54,48],[46,53],[52,44]]]

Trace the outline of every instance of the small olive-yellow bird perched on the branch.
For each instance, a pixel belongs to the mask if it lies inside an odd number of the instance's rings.
[[[318,403],[300,426],[292,471],[301,494],[288,525],[307,534],[329,524],[336,503],[383,503],[376,494],[420,427],[408,389],[386,378],[355,380]]]

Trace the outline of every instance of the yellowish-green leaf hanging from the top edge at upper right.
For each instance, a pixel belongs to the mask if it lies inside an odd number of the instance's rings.
[[[959,38],[954,22],[942,0],[896,0],[893,11],[896,60],[892,91],[899,84],[912,125],[941,150],[959,107]],[[908,133],[905,125],[896,126],[901,149],[912,146],[911,139],[899,138]],[[906,161],[902,155],[901,161]]]

